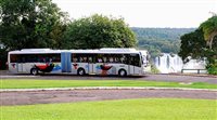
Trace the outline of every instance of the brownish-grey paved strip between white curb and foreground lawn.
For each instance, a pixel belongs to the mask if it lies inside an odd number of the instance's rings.
[[[64,90],[1,92],[0,105],[11,106],[151,97],[216,99],[217,92],[192,90]]]

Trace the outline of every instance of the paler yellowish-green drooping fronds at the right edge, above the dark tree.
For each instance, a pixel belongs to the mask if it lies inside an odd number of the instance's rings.
[[[201,24],[200,28],[203,29],[204,39],[207,41],[209,49],[212,49],[214,37],[217,36],[217,15],[214,15],[213,17]]]

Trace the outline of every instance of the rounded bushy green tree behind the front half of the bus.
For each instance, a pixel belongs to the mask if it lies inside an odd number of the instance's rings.
[[[136,37],[123,18],[94,14],[74,21],[65,32],[67,49],[131,48]]]

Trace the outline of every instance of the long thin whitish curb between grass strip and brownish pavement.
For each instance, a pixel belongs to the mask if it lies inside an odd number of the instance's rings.
[[[188,89],[188,88],[155,88],[155,86],[87,86],[87,88],[51,88],[51,89],[0,89],[0,92],[31,92],[31,91],[73,91],[73,90],[180,90],[180,91],[210,91],[212,89]]]

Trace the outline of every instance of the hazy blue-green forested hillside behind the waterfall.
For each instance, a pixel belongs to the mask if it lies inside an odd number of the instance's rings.
[[[178,53],[180,36],[195,30],[195,28],[131,28],[138,40],[139,49],[149,50],[152,57],[165,53]]]

